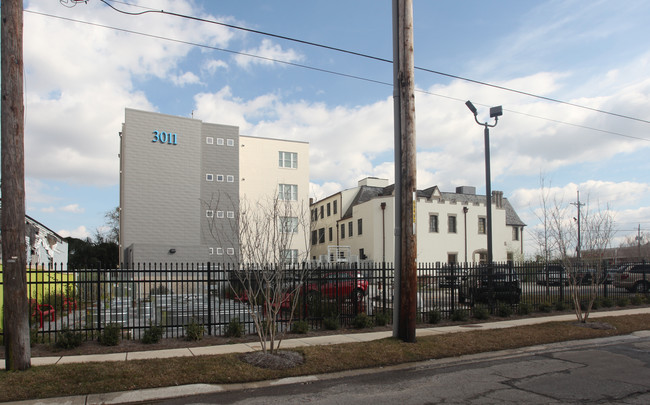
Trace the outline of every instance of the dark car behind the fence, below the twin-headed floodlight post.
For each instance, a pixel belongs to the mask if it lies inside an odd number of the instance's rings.
[[[521,282],[511,266],[480,265],[468,274],[458,289],[458,301],[474,305],[503,301],[517,304],[521,300]]]

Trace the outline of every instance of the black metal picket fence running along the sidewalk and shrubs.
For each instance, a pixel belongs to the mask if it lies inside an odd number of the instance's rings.
[[[497,313],[507,306],[512,313],[520,314],[570,309],[572,289],[584,300],[595,294],[597,305],[607,306],[608,302],[615,304],[648,294],[650,272],[646,274],[645,263],[641,268],[636,284],[621,286],[617,278],[621,268],[603,264],[570,269],[540,263],[420,264],[418,320],[426,323],[432,315],[453,319],[459,311],[472,316],[476,308]],[[39,339],[52,342],[64,328],[94,339],[107,324],[119,324],[123,337],[140,339],[145,330],[158,325],[164,337],[173,338],[183,336],[191,323],[203,325],[209,335],[224,335],[231,320],[237,319],[246,333],[254,333],[250,309],[261,303],[241,293],[242,281],[237,277],[241,269],[215,263],[67,271],[30,268],[27,280],[32,330]],[[247,267],[251,269],[263,272],[268,267]],[[294,291],[287,300],[298,300],[294,321],[306,321],[315,329],[323,328],[328,320],[351,326],[364,313],[371,319],[382,316],[390,323],[391,264],[319,264],[281,271],[287,290]],[[637,288],[639,285],[644,288]],[[280,326],[288,329],[287,314],[281,311],[279,318]]]

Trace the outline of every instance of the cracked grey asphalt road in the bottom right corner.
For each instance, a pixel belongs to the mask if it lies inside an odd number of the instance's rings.
[[[650,404],[650,332],[305,377],[156,403]]]

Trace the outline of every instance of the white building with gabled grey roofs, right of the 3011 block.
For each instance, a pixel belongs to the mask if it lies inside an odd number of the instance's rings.
[[[502,192],[492,194],[494,260],[522,260],[525,224]],[[394,201],[394,185],[388,180],[366,178],[355,188],[312,203],[312,260],[392,262]],[[474,187],[458,187],[454,193],[437,186],[418,190],[418,263],[485,261],[486,213],[486,198],[476,195]]]

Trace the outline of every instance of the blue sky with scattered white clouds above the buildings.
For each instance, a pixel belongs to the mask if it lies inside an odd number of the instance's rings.
[[[368,176],[394,181],[391,1],[106,3],[24,1],[26,210],[55,232],[92,237],[119,205],[125,108],[307,141],[316,200]],[[616,246],[650,231],[650,2],[413,10],[418,188],[484,194],[483,129],[464,103],[481,122],[502,105],[492,190],[527,224],[527,256],[541,178],[565,206],[579,191],[591,210],[607,207]]]

